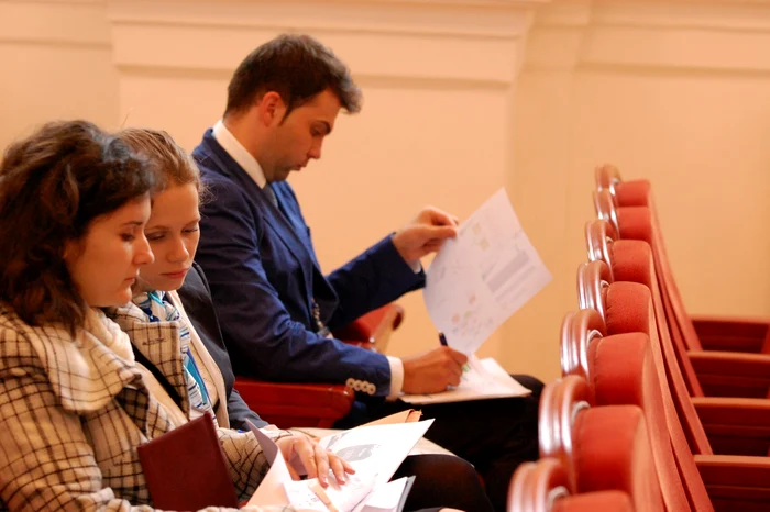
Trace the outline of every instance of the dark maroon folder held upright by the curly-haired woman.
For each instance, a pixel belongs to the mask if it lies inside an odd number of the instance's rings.
[[[209,414],[138,448],[153,505],[166,510],[238,508],[224,453]]]

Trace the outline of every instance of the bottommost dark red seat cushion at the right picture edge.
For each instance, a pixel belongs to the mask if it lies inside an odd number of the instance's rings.
[[[695,465],[717,511],[770,510],[770,458],[696,455]]]

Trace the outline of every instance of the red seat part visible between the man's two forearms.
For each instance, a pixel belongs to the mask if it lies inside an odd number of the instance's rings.
[[[404,320],[404,308],[389,303],[370,311],[353,322],[334,330],[334,337],[362,348],[385,354],[391,334]]]

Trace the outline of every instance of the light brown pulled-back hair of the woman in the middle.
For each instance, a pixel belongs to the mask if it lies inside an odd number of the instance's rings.
[[[155,172],[156,193],[169,186],[193,183],[202,199],[205,187],[197,164],[167,132],[129,127],[119,132],[118,138],[147,160]]]

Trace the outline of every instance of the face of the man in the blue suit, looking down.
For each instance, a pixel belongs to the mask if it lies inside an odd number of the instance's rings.
[[[327,89],[285,119],[285,105],[278,109],[263,147],[263,162],[260,162],[267,181],[283,181],[293,170],[308,165],[311,158],[321,157],[321,145],[334,127],[340,107],[340,100]]]

